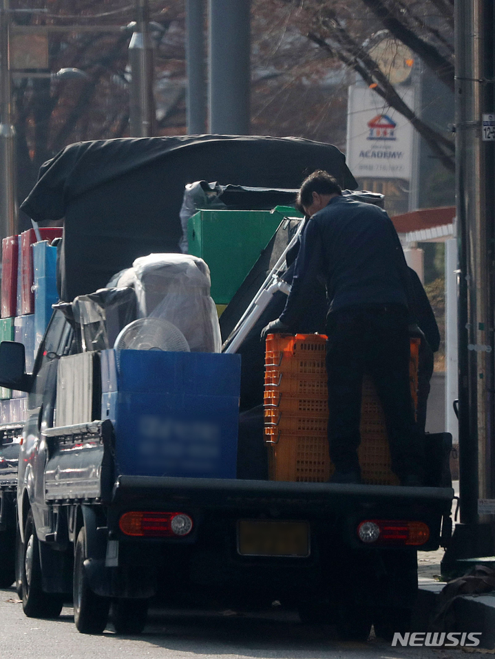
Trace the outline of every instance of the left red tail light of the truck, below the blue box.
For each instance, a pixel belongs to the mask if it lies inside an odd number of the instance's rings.
[[[193,530],[193,520],[184,512],[125,512],[118,521],[120,530],[134,537],[177,538]]]

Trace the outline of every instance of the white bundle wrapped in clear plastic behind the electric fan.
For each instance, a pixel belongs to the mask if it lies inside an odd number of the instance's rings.
[[[150,254],[120,273],[118,286],[132,286],[138,317],[176,325],[191,352],[220,352],[222,341],[206,263],[189,254]]]

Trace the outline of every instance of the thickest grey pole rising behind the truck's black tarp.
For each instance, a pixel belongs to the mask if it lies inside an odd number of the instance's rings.
[[[209,131],[248,135],[250,0],[209,0]]]

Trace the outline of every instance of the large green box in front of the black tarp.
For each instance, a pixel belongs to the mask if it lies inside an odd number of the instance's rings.
[[[277,209],[198,210],[189,218],[189,254],[207,262],[216,304],[229,304],[286,215]]]

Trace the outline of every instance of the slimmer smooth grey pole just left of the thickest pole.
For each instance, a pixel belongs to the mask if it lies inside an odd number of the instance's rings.
[[[186,0],[187,134],[204,133],[207,90],[204,80],[203,0]]]

